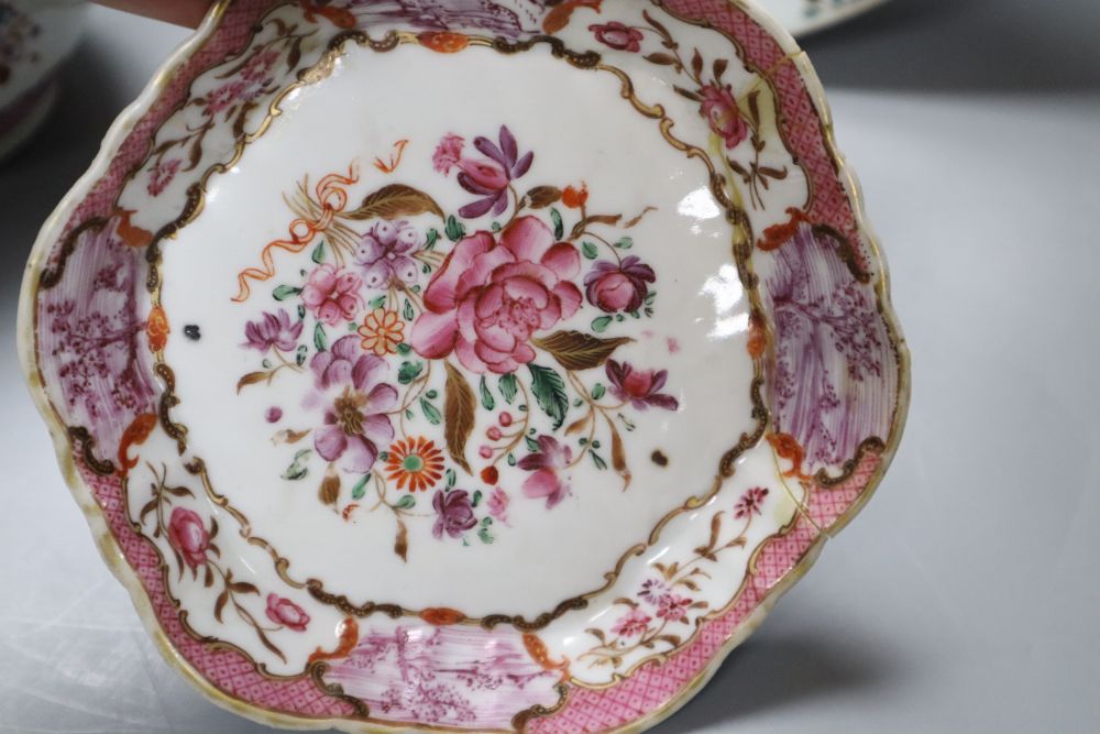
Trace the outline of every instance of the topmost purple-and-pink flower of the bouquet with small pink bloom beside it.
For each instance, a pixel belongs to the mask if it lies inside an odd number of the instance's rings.
[[[499,217],[508,208],[508,185],[526,174],[535,160],[535,153],[519,155],[516,138],[506,125],[501,125],[499,145],[488,138],[474,139],[476,147],[488,160],[468,158],[462,155],[465,141],[454,134],[444,135],[440,141],[432,163],[436,171],[447,174],[458,166],[459,184],[471,194],[482,197],[459,209],[459,216],[474,219],[492,210]]]

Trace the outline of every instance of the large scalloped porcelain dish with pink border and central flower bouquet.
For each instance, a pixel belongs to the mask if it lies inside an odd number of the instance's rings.
[[[654,724],[908,395],[818,83],[740,1],[221,2],[20,319],[166,658],[304,728]]]

